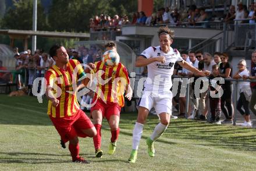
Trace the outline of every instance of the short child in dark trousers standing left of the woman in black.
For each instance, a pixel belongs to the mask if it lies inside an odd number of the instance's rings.
[[[214,97],[216,92],[221,89],[221,84],[215,78],[219,76],[219,66],[217,64],[212,65],[212,74],[209,76],[209,104],[211,111],[211,120],[210,123],[221,124],[219,117],[221,116],[221,97]],[[217,86],[216,86],[217,84]]]

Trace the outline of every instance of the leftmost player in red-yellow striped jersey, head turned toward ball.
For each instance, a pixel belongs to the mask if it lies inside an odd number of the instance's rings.
[[[49,55],[54,58],[56,65],[47,70],[46,95],[48,115],[63,143],[69,141],[69,151],[73,162],[88,163],[79,156],[79,140],[77,137],[94,137],[95,127],[86,114],[81,111],[76,98],[74,85],[83,77],[83,68],[77,60],[70,59],[66,49],[59,44],[51,47]],[[83,83],[86,83],[84,79]]]

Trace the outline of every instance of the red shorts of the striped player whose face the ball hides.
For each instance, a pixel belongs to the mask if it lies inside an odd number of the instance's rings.
[[[94,101],[92,102],[94,103]],[[102,113],[102,118],[106,117],[106,120],[109,120],[111,115],[117,115],[120,117],[121,107],[118,103],[114,102],[105,102],[102,99],[97,99],[96,104],[91,107],[91,112],[100,111]]]

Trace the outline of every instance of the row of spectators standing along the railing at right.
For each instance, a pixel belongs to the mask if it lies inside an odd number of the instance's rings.
[[[251,60],[251,71],[247,69],[246,60],[241,59],[239,63],[237,63],[237,69],[235,74],[232,76],[232,65],[229,62],[229,56],[226,53],[215,52],[214,54],[209,54],[207,52],[181,52],[182,58],[193,65],[199,70],[209,70],[211,72],[211,76],[209,77],[209,89],[205,92],[200,93],[200,97],[195,97],[195,81],[199,79],[198,76],[194,75],[194,73],[190,73],[189,71],[183,69],[178,64],[175,65],[174,75],[176,76],[187,76],[194,77],[193,83],[190,83],[190,94],[189,94],[189,113],[187,119],[197,119],[197,120],[207,120],[207,115],[209,111],[211,112],[211,116],[209,116],[209,123],[232,123],[234,107],[232,101],[233,94],[233,82],[225,80],[225,84],[221,84],[218,81],[215,81],[215,77],[222,77],[224,79],[251,79],[255,80],[256,73],[256,51],[252,54]],[[251,76],[250,76],[251,73]],[[215,86],[218,84],[218,86]],[[181,83],[179,85],[179,88]],[[219,98],[212,98],[209,96],[209,91],[216,92],[220,89],[223,89],[223,95]],[[202,84],[201,84],[202,88]],[[243,115],[244,123],[242,126],[251,126],[250,120],[250,111],[256,115],[255,111],[255,100],[253,94],[255,94],[256,85],[255,83],[249,82],[240,82],[238,84],[239,90],[239,99],[237,101],[237,110]],[[179,89],[180,90],[180,89]],[[178,92],[179,92],[178,90]],[[180,92],[179,92],[180,93]],[[173,98],[173,104],[179,104],[179,108],[176,106],[176,109],[179,111],[179,117],[185,117],[185,97],[180,97],[180,94],[177,94],[176,97]],[[252,98],[251,98],[252,97]],[[252,100],[252,101],[251,101]],[[251,103],[250,103],[251,102]],[[250,104],[250,106],[249,106]],[[243,107],[243,108],[242,108]],[[225,115],[225,120],[221,122],[220,116],[221,112]]]

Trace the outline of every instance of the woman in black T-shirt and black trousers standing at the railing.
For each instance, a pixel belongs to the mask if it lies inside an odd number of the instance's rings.
[[[232,77],[232,66],[227,60],[229,56],[227,54],[221,55],[221,65],[219,65],[219,69],[221,70],[221,77],[230,78]],[[222,86],[223,95],[221,97],[221,110],[224,113],[226,119],[223,120],[222,123],[232,123],[232,116],[234,113],[234,107],[232,102],[232,94],[233,94],[233,83],[232,81],[225,80],[225,84]]]

